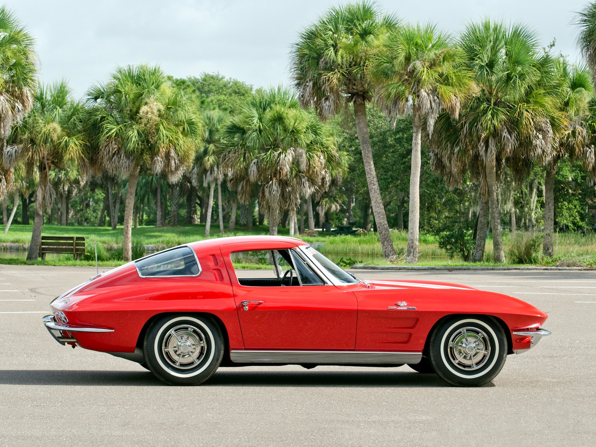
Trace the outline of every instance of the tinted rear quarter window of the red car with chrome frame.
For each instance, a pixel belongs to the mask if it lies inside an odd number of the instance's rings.
[[[141,277],[193,277],[200,274],[193,249],[178,247],[135,261]]]

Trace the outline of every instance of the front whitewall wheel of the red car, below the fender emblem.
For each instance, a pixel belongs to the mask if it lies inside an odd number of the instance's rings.
[[[507,337],[489,316],[458,316],[437,326],[430,339],[430,362],[455,386],[482,386],[501,371]]]

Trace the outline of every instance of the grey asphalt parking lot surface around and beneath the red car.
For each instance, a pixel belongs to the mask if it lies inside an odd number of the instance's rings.
[[[481,388],[401,368],[221,368],[166,386],[56,343],[41,317],[95,269],[0,266],[0,445],[594,445],[596,272],[378,272],[452,281],[550,315],[552,332]]]

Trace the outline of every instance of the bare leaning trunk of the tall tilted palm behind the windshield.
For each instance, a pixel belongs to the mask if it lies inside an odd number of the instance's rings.
[[[354,117],[356,119],[356,133],[362,151],[362,160],[364,161],[364,170],[367,175],[368,193],[371,196],[374,219],[377,222],[378,236],[381,240],[383,256],[389,258],[395,256],[395,247],[393,247],[391,233],[389,232],[389,224],[387,224],[381,190],[378,187],[377,173],[374,168],[373,151],[371,150],[370,135],[368,134],[367,108],[364,100],[358,97],[354,101]],[[412,163],[414,163],[413,160]],[[416,227],[418,228],[418,225]]]

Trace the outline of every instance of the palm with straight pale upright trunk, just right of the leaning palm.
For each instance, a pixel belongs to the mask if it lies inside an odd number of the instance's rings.
[[[407,25],[383,38],[374,63],[381,86],[377,100],[393,120],[412,116],[412,167],[409,190],[407,262],[418,260],[420,220],[420,145],[423,123],[429,136],[442,109],[457,119],[460,98],[471,86],[462,52],[434,24]]]

